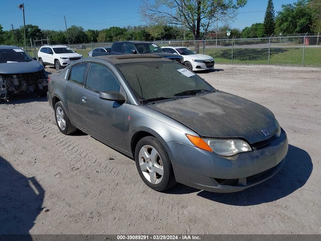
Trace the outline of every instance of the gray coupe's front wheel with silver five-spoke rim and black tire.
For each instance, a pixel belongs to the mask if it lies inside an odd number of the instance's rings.
[[[170,157],[154,137],[144,137],[135,148],[136,168],[140,178],[151,189],[162,192],[176,184]]]

